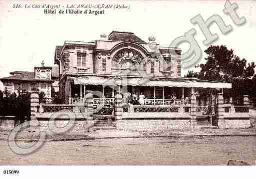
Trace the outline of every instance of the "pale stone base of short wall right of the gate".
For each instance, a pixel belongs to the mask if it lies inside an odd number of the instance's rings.
[[[251,127],[250,118],[245,119],[228,119],[224,118],[218,121],[218,126],[220,129],[240,129]]]

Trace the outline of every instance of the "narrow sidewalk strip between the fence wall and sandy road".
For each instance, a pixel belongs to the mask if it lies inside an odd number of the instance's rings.
[[[0,140],[6,140],[12,129],[0,128]],[[17,140],[35,141],[38,139],[39,131],[19,132]],[[79,131],[76,133],[64,133],[47,135],[47,141],[61,140],[88,140],[101,138],[132,138],[132,137],[166,137],[166,136],[225,136],[225,135],[248,135],[256,136],[256,128],[249,129],[171,129],[164,131],[123,131],[123,130],[96,130],[91,132]]]

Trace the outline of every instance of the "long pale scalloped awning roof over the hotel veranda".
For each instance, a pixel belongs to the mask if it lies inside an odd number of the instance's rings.
[[[97,76],[86,77],[70,77],[74,80],[74,84],[82,85],[103,85],[103,86],[117,86],[117,85],[131,85],[131,86],[167,86],[167,87],[186,87],[186,88],[232,88],[231,83],[221,83],[216,81],[197,81],[197,80],[159,80],[150,78],[108,78]]]

